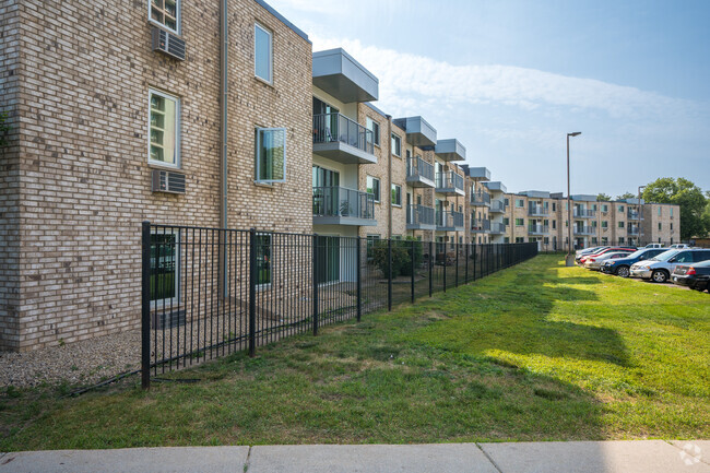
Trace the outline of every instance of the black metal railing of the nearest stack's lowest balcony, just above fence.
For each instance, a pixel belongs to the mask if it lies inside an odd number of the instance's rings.
[[[313,216],[375,218],[375,198],[344,187],[313,187]]]

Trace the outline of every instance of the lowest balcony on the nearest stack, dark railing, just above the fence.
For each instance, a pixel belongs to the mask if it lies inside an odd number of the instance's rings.
[[[313,187],[313,225],[377,225],[375,198],[344,187]]]

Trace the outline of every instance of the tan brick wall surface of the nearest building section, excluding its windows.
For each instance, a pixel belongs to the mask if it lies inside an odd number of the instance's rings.
[[[141,221],[218,224],[220,16],[217,2],[182,2],[179,62],[151,50],[146,0],[26,0],[19,11],[14,347],[27,350],[139,326]],[[273,32],[273,85],[253,76],[255,21]],[[252,0],[230,1],[229,28],[228,225],[309,232],[311,46]],[[180,97],[185,196],[151,192],[149,87]],[[257,126],[287,129],[283,185],[253,184]]]

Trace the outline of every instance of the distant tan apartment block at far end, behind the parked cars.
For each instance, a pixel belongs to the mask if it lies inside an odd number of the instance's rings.
[[[506,199],[511,202],[506,213],[511,223],[508,240],[537,241],[543,251],[567,250],[570,234],[575,248],[679,241],[678,205],[638,199],[597,202],[595,196],[572,194],[568,210],[563,193],[534,190]]]

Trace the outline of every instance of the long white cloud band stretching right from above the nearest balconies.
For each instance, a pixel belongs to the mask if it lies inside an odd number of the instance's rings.
[[[294,0],[297,1],[297,0]],[[411,98],[449,103],[505,105],[525,111],[541,106],[570,111],[603,110],[612,118],[687,118],[691,102],[594,79],[570,78],[513,66],[455,66],[359,40],[311,37],[313,50],[343,47],[380,80],[380,100],[410,110]]]

